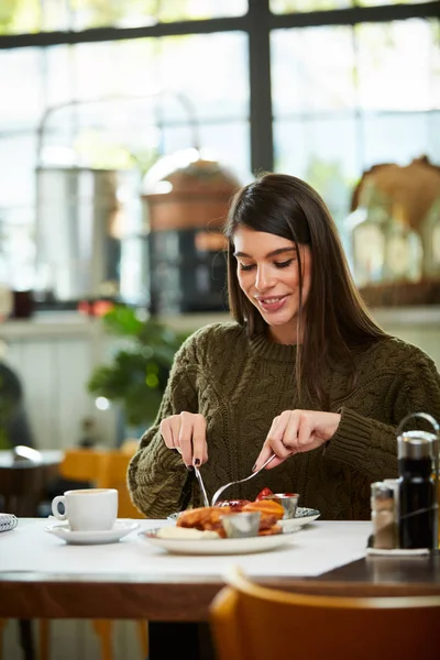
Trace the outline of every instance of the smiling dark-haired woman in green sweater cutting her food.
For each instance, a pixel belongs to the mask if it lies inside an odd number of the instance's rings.
[[[418,348],[386,334],[353,284],[319,195],[266,174],[240,189],[226,227],[234,322],[195,332],[178,351],[157,420],[129,468],[151,518],[224,493],[297,492],[322,519],[369,519],[373,481],[397,475],[396,426],[440,419],[440,376]]]

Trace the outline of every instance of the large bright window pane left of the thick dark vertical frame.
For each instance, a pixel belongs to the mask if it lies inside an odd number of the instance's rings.
[[[144,170],[194,145],[195,123],[201,147],[249,172],[246,66],[248,37],[238,32],[1,51],[0,221],[34,221],[36,130],[54,106],[43,165]]]

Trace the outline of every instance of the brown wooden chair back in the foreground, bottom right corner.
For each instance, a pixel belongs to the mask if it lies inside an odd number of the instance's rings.
[[[210,606],[218,660],[403,660],[439,648],[440,596],[288,593],[254,584],[237,566],[226,582]]]

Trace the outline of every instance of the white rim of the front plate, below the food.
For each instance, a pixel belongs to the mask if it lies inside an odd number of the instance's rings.
[[[244,539],[163,539],[157,537],[157,529],[140,531],[141,539],[158,546],[176,554],[248,554],[250,552],[265,552],[289,543],[295,535],[283,531],[261,537],[246,537]]]

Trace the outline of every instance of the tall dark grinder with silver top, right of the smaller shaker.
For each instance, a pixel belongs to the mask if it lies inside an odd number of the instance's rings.
[[[430,422],[435,432],[403,428],[409,419]],[[404,549],[438,547],[439,425],[426,413],[413,413],[397,428],[398,527]]]

